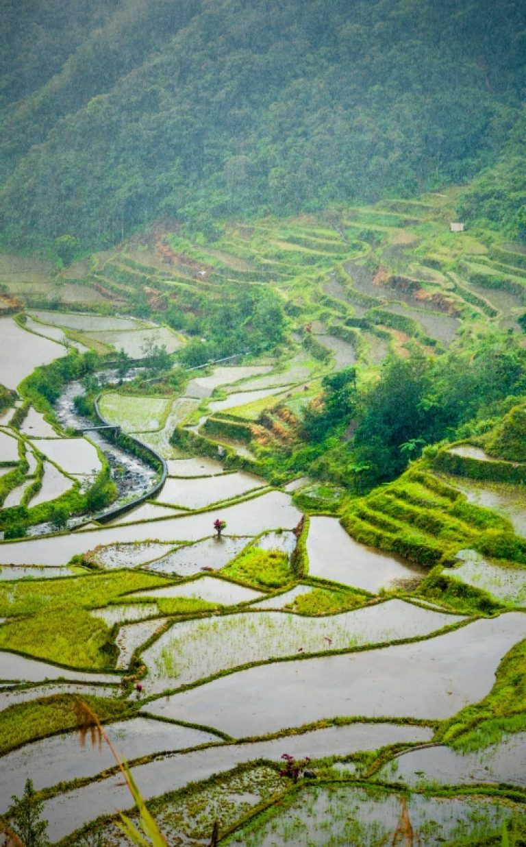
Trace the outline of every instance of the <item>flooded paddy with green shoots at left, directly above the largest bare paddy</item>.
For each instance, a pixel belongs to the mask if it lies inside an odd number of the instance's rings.
[[[148,690],[160,692],[248,662],[407,639],[459,620],[397,600],[329,617],[241,612],[175,623],[142,654],[142,661],[148,667]]]

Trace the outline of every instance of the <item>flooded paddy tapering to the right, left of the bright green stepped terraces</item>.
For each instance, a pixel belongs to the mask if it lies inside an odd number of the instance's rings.
[[[424,578],[423,567],[358,544],[337,518],[311,518],[307,538],[308,573],[376,593],[401,579]]]

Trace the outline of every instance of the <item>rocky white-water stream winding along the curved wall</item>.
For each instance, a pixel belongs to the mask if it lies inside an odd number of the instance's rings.
[[[102,372],[96,375],[101,385],[111,383],[111,372]],[[91,517],[104,522],[117,517],[154,495],[163,486],[168,468],[166,462],[158,456],[158,453],[153,451],[151,447],[141,444],[131,435],[121,436],[121,438],[124,437],[130,443],[132,449],[133,446],[136,446],[141,455],[136,455],[134,451],[126,450],[125,447],[114,443],[114,440],[111,440],[111,435],[109,435],[112,432],[111,429],[92,429],[96,424],[93,424],[93,421],[89,418],[80,415],[75,409],[75,397],[82,393],[83,388],[80,380],[69,383],[55,403],[55,413],[64,429],[88,429],[89,439],[108,460],[112,479],[117,486],[117,498],[111,507],[108,507],[104,512],[95,516],[86,516],[86,518]],[[97,403],[96,412],[100,418],[100,423],[106,424],[98,411]],[[151,456],[152,461],[148,462],[145,456]]]

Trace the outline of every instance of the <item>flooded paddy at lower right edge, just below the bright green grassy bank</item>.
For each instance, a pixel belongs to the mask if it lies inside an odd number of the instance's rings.
[[[506,735],[483,750],[457,752],[441,745],[411,750],[382,768],[378,778],[407,785],[510,783],[526,787],[526,733]]]

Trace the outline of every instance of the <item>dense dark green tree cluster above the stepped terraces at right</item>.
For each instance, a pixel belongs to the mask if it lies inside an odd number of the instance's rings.
[[[347,484],[395,479],[426,445],[484,432],[526,394],[526,350],[495,335],[475,349],[428,357],[415,348],[393,356],[380,379],[357,390],[353,368],[324,379],[321,402],[307,407],[306,446],[296,462]],[[350,431],[352,430],[352,431]]]

